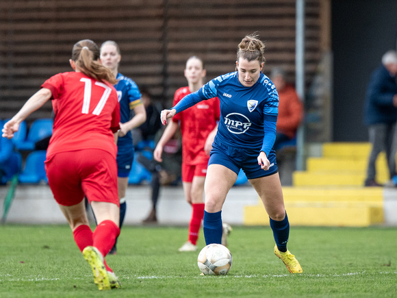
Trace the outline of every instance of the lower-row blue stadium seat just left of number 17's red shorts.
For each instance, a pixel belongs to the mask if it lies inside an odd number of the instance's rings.
[[[44,169],[46,153],[47,151],[45,150],[37,150],[27,155],[25,169],[19,175],[19,182],[28,184],[37,184],[42,181],[48,182]]]

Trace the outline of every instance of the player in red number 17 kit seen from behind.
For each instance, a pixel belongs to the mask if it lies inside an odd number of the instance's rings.
[[[12,138],[29,114],[52,99],[55,119],[45,161],[49,186],[92,267],[95,284],[99,290],[110,290],[120,286],[104,259],[120,233],[115,143],[120,106],[112,86],[116,79],[98,60],[99,47],[92,40],[77,42],[70,60],[75,71],[47,79],[2,132]],[[94,232],[84,195],[97,218]]]

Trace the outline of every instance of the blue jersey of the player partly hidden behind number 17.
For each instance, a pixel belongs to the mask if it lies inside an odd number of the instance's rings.
[[[131,119],[131,110],[138,105],[142,105],[141,95],[138,86],[129,77],[125,77],[121,73],[117,74],[118,83],[114,85],[117,90],[118,102],[120,103],[120,122],[126,123]],[[132,147],[131,132],[123,137],[118,137],[118,151],[123,150],[122,146]]]

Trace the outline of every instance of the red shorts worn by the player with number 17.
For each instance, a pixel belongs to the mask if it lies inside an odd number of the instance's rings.
[[[88,201],[118,203],[117,164],[111,153],[85,149],[55,153],[45,161],[55,201],[63,206]]]

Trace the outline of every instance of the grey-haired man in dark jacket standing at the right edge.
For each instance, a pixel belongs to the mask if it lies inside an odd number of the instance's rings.
[[[387,51],[382,64],[372,73],[364,101],[364,123],[368,125],[372,151],[368,158],[365,186],[381,186],[376,182],[376,158],[385,151],[389,179],[396,175],[396,146],[393,136],[397,120],[397,53]]]

